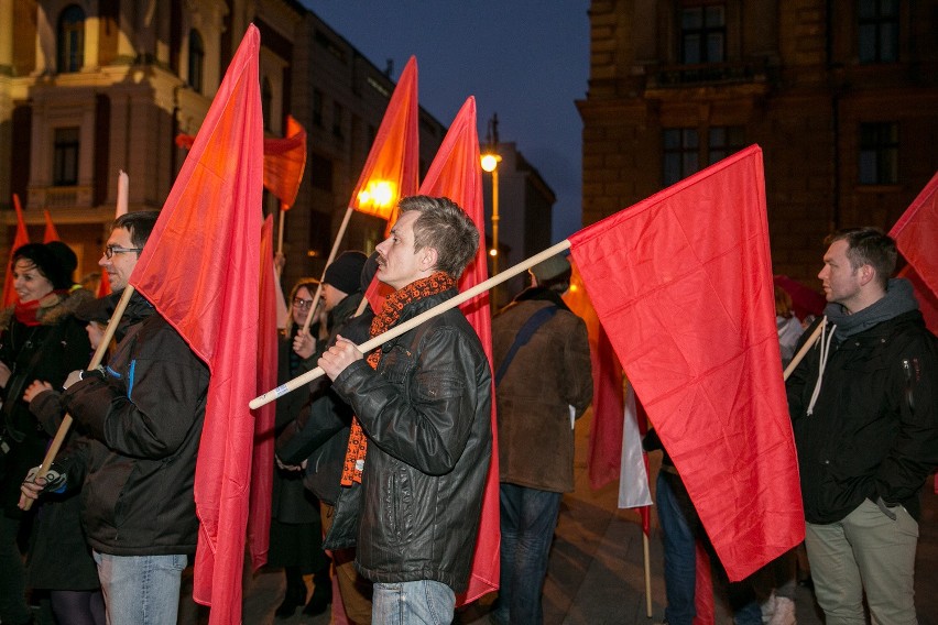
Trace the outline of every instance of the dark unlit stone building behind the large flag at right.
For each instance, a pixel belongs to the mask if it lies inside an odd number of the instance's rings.
[[[756,143],[775,273],[819,286],[824,237],[888,230],[938,168],[934,2],[595,0],[592,223]]]

